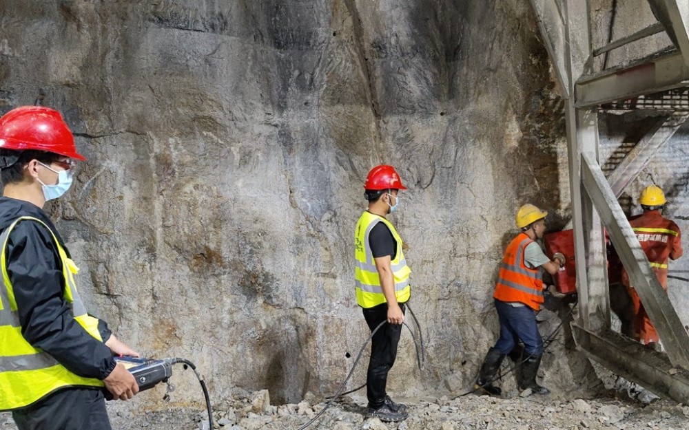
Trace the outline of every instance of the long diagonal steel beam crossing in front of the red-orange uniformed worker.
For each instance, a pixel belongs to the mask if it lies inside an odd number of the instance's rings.
[[[608,235],[629,275],[630,283],[637,290],[641,303],[644,303],[670,361],[675,366],[689,369],[689,350],[685,348],[689,345],[689,336],[675,308],[672,308],[668,294],[655,277],[597,160],[589,154],[582,154],[581,171],[584,188],[608,229]]]

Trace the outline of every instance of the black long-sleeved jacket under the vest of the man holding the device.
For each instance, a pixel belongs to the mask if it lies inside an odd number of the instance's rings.
[[[0,197],[0,232],[26,215],[50,226],[69,255],[64,241],[41,208],[23,200]],[[108,376],[116,364],[110,348],[88,334],[74,319],[64,299],[67,286],[50,232],[38,222],[21,221],[12,229],[5,252],[22,336],[79,376],[101,380]],[[110,330],[103,321],[99,322],[99,331],[103,342],[110,338]]]

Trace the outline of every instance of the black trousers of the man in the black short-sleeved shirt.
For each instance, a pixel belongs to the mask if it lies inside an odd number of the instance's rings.
[[[400,303],[404,313],[404,303]],[[387,303],[382,303],[374,308],[364,309],[364,319],[371,332],[383,321],[387,321]],[[366,375],[366,396],[369,399],[369,407],[378,409],[383,405],[387,374],[395,364],[397,358],[397,345],[400,343],[402,325],[385,323],[371,339],[371,359]]]

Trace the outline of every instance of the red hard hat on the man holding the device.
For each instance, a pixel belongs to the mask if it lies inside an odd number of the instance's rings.
[[[52,152],[65,157],[86,160],[76,152],[74,136],[55,109],[22,106],[0,118],[0,148]]]

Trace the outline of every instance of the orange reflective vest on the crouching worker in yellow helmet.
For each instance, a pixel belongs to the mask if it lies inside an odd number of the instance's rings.
[[[526,233],[520,233],[507,246],[493,297],[500,301],[524,303],[533,310],[539,310],[543,303],[541,269],[531,269],[524,264],[524,249],[531,242],[533,240]]]

